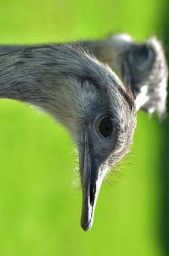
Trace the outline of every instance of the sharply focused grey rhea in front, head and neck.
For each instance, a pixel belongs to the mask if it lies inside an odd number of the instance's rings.
[[[82,184],[81,226],[90,230],[102,181],[133,141],[133,93],[108,65],[77,44],[1,52],[0,77],[0,98],[41,108],[70,133]]]

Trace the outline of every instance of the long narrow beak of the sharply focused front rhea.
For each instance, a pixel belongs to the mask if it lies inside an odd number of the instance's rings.
[[[82,183],[82,216],[81,226],[84,231],[90,230],[93,224],[94,209],[97,202],[102,178],[98,177],[98,168],[92,164],[92,151],[87,132],[84,134],[84,151],[80,161]]]

